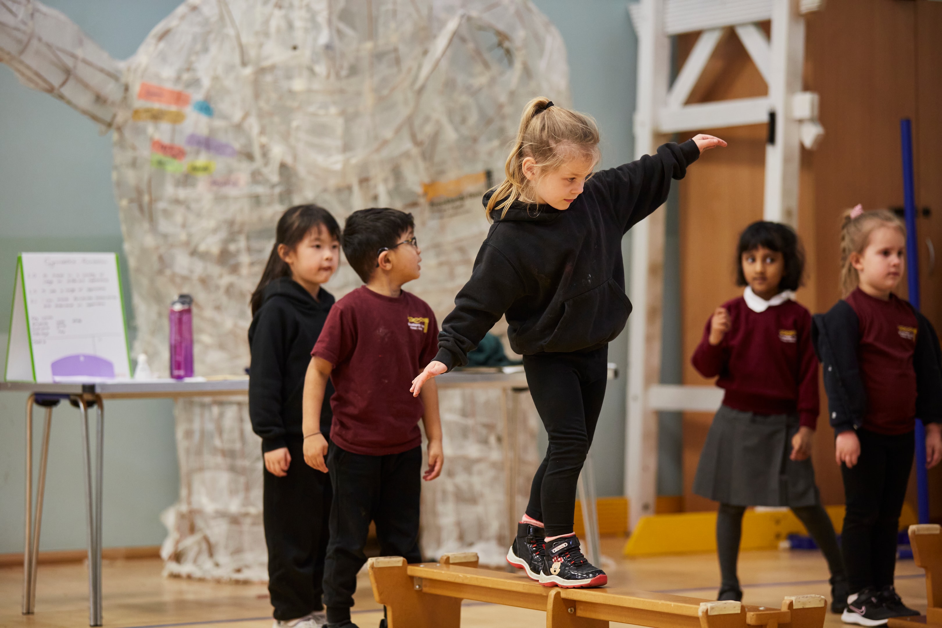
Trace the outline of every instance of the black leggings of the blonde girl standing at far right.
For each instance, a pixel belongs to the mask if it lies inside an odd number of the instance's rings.
[[[852,593],[893,584],[900,512],[916,451],[913,434],[858,429],[860,458],[852,469],[840,465],[847,504],[840,541]]]

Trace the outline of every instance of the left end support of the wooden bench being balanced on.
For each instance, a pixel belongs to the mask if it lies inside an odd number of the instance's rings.
[[[461,628],[462,601],[422,591],[420,579],[406,573],[401,556],[370,558],[373,597],[386,607],[388,628]]]

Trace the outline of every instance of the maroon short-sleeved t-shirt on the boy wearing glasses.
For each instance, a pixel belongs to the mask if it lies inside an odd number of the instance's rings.
[[[429,304],[366,286],[334,303],[311,355],[333,364],[331,440],[354,454],[385,456],[422,443],[424,408],[409,392],[438,351]]]

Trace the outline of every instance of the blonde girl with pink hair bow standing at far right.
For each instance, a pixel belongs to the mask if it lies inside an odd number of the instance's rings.
[[[919,614],[893,587],[917,417],[926,426],[926,466],[942,459],[938,337],[925,316],[893,294],[906,266],[905,244],[900,218],[854,207],[840,232],[844,298],[814,319],[847,505],[841,545],[851,595],[841,620],[862,626]]]

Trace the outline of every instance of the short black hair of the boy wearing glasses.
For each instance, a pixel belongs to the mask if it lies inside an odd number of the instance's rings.
[[[344,255],[364,283],[377,267],[381,249],[392,249],[399,236],[415,229],[412,214],[388,207],[353,212],[344,225]]]

